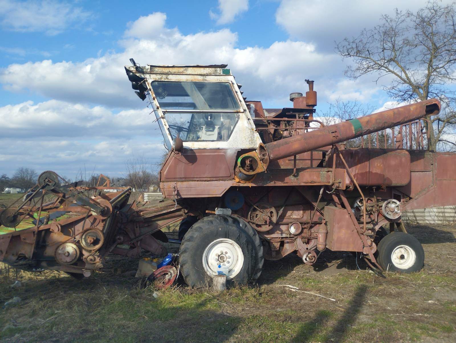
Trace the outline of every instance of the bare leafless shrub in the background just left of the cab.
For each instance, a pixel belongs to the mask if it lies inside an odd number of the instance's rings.
[[[125,182],[127,186],[136,191],[147,189],[151,184],[158,182],[157,177],[151,173],[151,165],[144,155],[133,156],[125,161]]]

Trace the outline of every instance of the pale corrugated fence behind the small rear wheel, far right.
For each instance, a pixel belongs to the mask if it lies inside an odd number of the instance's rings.
[[[455,224],[456,206],[404,211],[402,219],[420,224]]]

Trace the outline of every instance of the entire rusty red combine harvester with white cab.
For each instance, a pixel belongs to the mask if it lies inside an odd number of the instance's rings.
[[[424,117],[440,111],[438,100],[325,126],[314,119],[313,81],[306,96],[290,95],[293,107],[266,109],[243,98],[226,65],[130,61],[132,88],[148,100],[169,149],[160,171],[165,200],[128,204],[131,189],[103,194],[106,184],[87,197],[87,187],[45,172],[34,191],[55,200],[31,195],[0,221],[14,227],[36,212],[48,217],[1,235],[2,261],[88,274],[109,253],[164,254],[161,228],[181,221],[180,270],[191,287],[220,270],[245,284],[264,259],[296,252],[311,265],[325,249],[356,252],[380,270],[422,268],[423,248],[406,233],[402,212],[456,204],[456,154],[426,149]],[[347,148],[356,138],[359,147]],[[52,211],[80,215],[52,221]]]

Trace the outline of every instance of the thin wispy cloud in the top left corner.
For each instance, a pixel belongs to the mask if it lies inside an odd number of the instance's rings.
[[[80,7],[57,0],[0,0],[0,25],[10,31],[45,32],[53,36],[91,16]]]

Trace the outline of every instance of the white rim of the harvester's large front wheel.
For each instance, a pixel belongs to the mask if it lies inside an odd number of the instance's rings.
[[[217,275],[219,270],[226,267],[229,280],[238,275],[243,265],[244,254],[241,247],[229,238],[212,241],[202,254],[202,266],[209,276]]]

